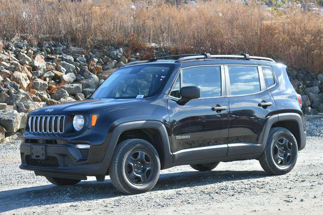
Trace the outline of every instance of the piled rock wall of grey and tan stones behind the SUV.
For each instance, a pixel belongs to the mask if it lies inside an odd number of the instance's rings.
[[[0,142],[24,131],[29,111],[85,99],[128,60],[138,61],[150,54],[138,51],[126,58],[125,52],[102,44],[84,49],[55,41],[36,47],[26,41],[0,41]],[[161,53],[155,50],[154,55]],[[323,75],[288,74],[302,95],[304,112],[323,113]]]

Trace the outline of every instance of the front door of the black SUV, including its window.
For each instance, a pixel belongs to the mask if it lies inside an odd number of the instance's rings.
[[[174,162],[227,155],[229,101],[221,68],[184,68],[176,79],[168,100]],[[180,105],[177,101],[184,86],[199,86],[201,97]]]

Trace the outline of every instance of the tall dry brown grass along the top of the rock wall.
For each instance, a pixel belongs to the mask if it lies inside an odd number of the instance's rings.
[[[49,3],[50,2],[50,3]],[[199,1],[198,7],[156,3],[131,8],[128,0],[0,0],[0,37],[30,35],[80,46],[97,42],[131,51],[156,43],[172,52],[240,53],[271,57],[290,67],[321,73],[323,18],[291,9],[268,15],[257,5]],[[1,14],[1,13],[0,13]]]

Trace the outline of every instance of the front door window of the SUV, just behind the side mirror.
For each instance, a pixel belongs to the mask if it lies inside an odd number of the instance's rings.
[[[182,86],[198,86],[201,98],[221,96],[220,66],[192,67],[183,70]]]

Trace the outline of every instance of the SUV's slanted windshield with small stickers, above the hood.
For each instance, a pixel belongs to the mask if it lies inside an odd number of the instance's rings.
[[[143,98],[154,95],[169,73],[168,66],[125,67],[114,72],[93,98]]]

